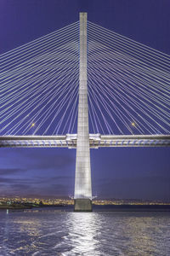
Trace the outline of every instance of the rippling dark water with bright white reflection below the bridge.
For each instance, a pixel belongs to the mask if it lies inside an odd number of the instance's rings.
[[[66,209],[0,211],[0,255],[170,255],[170,212]]]

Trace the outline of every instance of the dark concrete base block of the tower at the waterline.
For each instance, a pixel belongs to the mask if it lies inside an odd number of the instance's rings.
[[[90,199],[75,199],[74,212],[92,212],[92,201]]]

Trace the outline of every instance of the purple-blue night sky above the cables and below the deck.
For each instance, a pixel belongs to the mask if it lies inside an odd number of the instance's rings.
[[[0,53],[79,19],[170,55],[169,0],[0,0]],[[170,148],[91,150],[93,195],[170,200]],[[1,148],[0,196],[74,194],[76,150]]]

